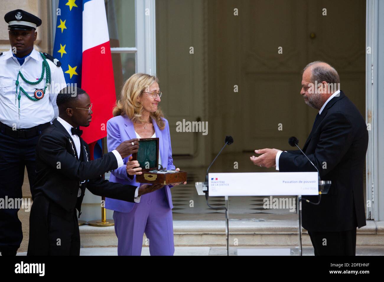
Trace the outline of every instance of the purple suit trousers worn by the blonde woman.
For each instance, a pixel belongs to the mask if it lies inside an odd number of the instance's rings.
[[[113,212],[118,256],[140,256],[144,233],[151,256],[173,256],[172,209],[165,188],[141,196],[129,213]]]

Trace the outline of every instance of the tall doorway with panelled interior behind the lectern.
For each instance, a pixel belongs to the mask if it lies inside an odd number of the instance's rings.
[[[365,117],[365,30],[359,0],[157,1],[157,74],[167,93],[161,106],[174,163],[190,175],[187,186],[172,188],[174,213],[222,213],[197,196],[194,182],[204,180],[225,135],[234,143],[210,172],[271,172],[250,162],[255,149],[290,150],[292,135],[304,145],[317,113],[299,95],[301,70],[311,61],[338,71],[341,89]],[[177,121],[198,118],[208,121],[207,135],[176,131]],[[230,204],[241,216],[268,213],[263,198],[230,197]]]

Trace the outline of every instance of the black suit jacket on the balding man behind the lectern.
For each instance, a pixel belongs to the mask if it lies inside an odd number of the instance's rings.
[[[321,180],[331,180],[319,205],[303,201],[303,228],[309,231],[346,231],[366,225],[363,195],[368,132],[364,118],[340,92],[324,107],[303,147],[319,169]],[[281,153],[280,172],[316,171],[299,150]],[[317,196],[305,196],[317,202]]]

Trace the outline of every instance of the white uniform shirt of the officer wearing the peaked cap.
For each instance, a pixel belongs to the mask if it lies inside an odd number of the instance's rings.
[[[45,124],[55,119],[58,114],[56,97],[58,92],[66,86],[63,70],[56,66],[50,59],[46,59],[51,70],[51,85],[47,87],[44,97],[39,101],[32,101],[20,92],[20,115],[19,102],[16,94],[16,80],[19,71],[24,78],[29,81],[37,81],[41,77],[43,58],[41,54],[33,49],[31,54],[25,58],[24,63],[20,63],[13,56],[12,49],[4,52],[0,56],[0,121],[10,127],[13,124],[17,129],[27,129],[39,124]],[[19,76],[19,86],[25,92],[35,98],[36,89],[44,90],[45,71],[43,80],[36,84],[27,84]]]

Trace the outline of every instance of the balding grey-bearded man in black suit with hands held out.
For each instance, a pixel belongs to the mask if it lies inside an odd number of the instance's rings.
[[[303,201],[303,228],[308,230],[314,254],[356,254],[356,227],[366,225],[363,172],[368,146],[364,118],[339,90],[339,75],[327,63],[315,61],[303,71],[301,92],[307,105],[319,110],[303,152],[318,168],[321,180],[331,180],[318,205]],[[317,86],[317,87],[316,87]],[[336,87],[332,87],[336,86]],[[255,165],[280,172],[316,171],[300,152],[255,150]],[[317,196],[305,196],[313,203]]]

